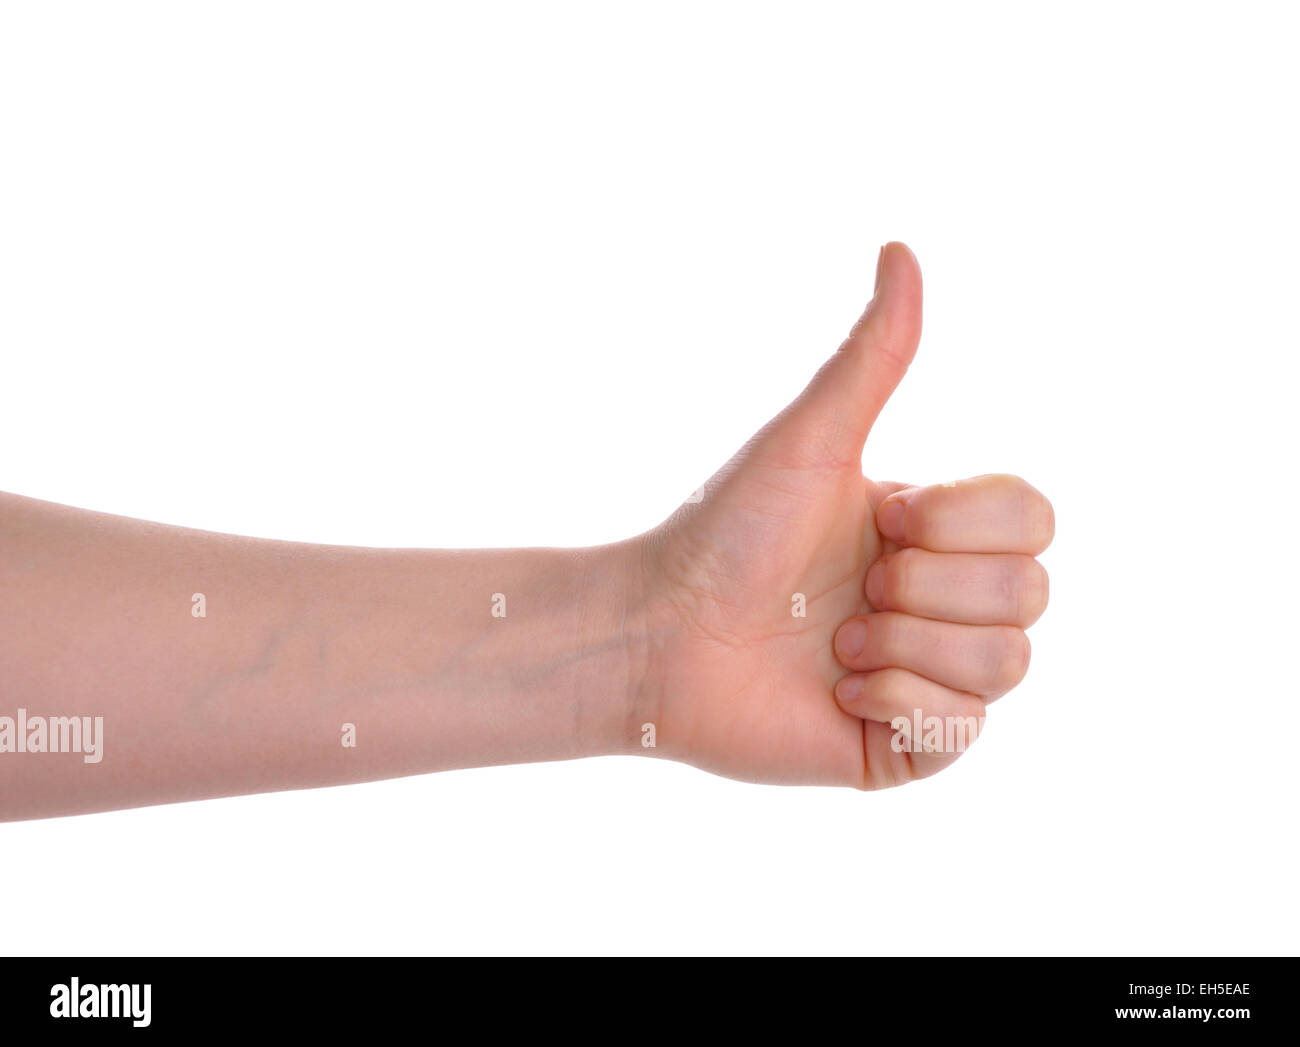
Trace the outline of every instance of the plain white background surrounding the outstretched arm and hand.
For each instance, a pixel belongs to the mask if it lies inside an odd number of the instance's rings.
[[[0,948],[1295,952],[1296,39],[1282,4],[6,4],[5,490],[621,538],[905,239],[926,337],[866,471],[1015,472],[1058,529],[1030,675],[933,779],[608,758],[5,825]]]

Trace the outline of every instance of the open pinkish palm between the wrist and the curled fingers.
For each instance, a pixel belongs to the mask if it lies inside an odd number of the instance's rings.
[[[790,467],[759,438],[664,528],[686,624],[673,661],[690,683],[666,688],[663,718],[693,762],[770,782],[861,778],[863,722],[829,697],[844,674],[831,636],[867,610],[875,506],[892,489],[855,466]]]

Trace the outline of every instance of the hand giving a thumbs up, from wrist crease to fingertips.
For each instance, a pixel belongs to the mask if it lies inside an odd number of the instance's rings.
[[[645,536],[655,754],[751,782],[902,784],[953,762],[1024,676],[1046,498],[1013,476],[862,475],[920,306],[915,258],[885,245],[835,355]]]

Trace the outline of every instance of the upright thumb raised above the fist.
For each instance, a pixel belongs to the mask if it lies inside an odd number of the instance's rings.
[[[876,290],[849,337],[790,404],[777,427],[801,457],[861,460],[862,447],[920,342],[920,267],[905,243],[887,243]]]

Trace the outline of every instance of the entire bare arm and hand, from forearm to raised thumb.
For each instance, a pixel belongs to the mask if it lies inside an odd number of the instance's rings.
[[[615,545],[322,546],[0,494],[0,717],[104,718],[98,763],[0,750],[0,819],[608,753],[854,788],[940,770],[957,753],[900,752],[890,721],[983,717],[1023,678],[1053,516],[1010,476],[863,477],[920,300],[887,245],[798,399]]]

